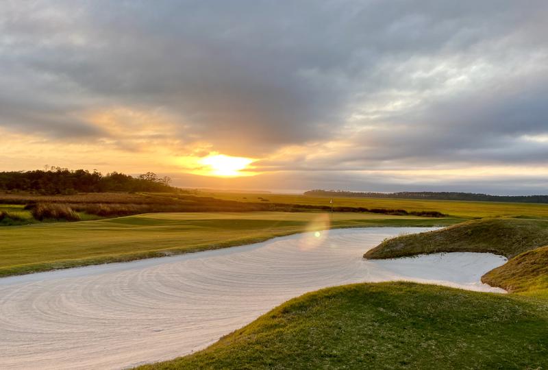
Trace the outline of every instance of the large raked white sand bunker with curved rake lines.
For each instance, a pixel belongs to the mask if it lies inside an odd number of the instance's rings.
[[[326,286],[479,282],[506,262],[454,253],[365,261],[423,228],[299,234],[256,245],[0,279],[0,369],[120,369],[202,349],[282,302]]]

